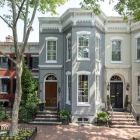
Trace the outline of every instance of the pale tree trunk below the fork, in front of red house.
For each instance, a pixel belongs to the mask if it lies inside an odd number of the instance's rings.
[[[21,75],[22,75],[22,61],[17,61],[16,65],[16,93],[15,100],[12,111],[12,120],[10,127],[10,136],[15,136],[18,134],[18,113],[19,113],[19,105],[21,102],[22,96],[22,87],[21,87]]]

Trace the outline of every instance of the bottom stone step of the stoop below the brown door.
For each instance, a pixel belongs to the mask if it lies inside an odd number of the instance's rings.
[[[50,121],[32,121],[32,125],[61,125],[62,122],[50,122]]]

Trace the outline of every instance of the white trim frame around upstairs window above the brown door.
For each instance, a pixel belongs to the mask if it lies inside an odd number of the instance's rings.
[[[46,37],[46,62],[45,63],[57,63],[57,37]],[[47,60],[47,48],[48,48],[48,41],[56,41],[56,60]]]

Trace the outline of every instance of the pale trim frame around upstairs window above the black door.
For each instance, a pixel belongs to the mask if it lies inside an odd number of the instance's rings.
[[[122,41],[123,41],[123,38],[122,37],[112,37],[111,39],[111,63],[123,63],[122,62]],[[120,61],[113,61],[112,60],[112,41],[115,41],[115,40],[118,40],[118,41],[121,41],[121,46],[120,46],[120,48],[121,48],[121,60]]]

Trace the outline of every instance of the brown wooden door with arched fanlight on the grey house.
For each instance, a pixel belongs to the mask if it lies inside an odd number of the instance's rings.
[[[53,74],[45,77],[45,101],[46,106],[57,106],[57,78]]]

